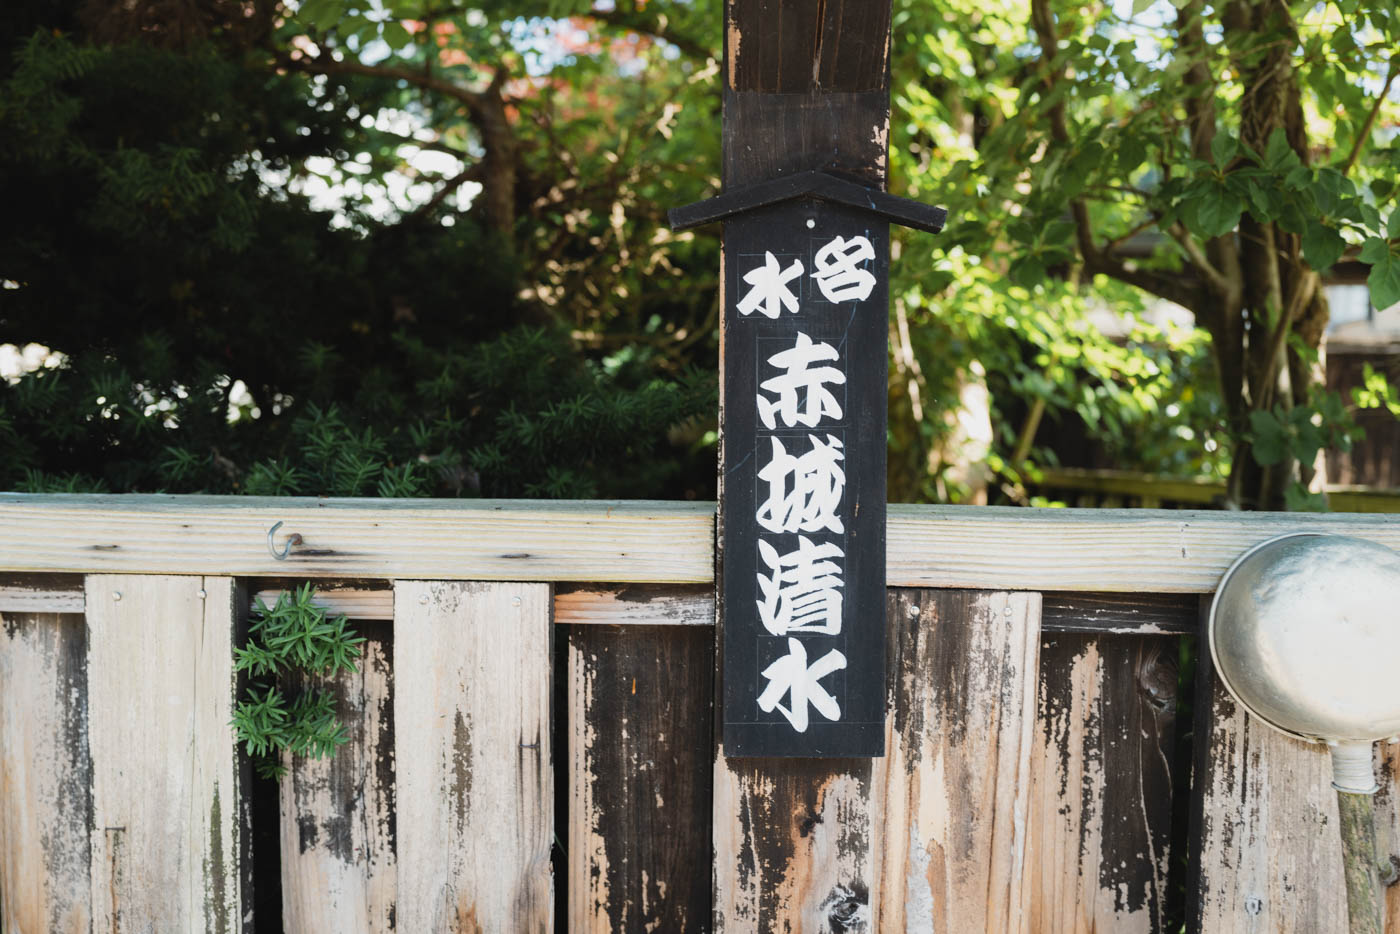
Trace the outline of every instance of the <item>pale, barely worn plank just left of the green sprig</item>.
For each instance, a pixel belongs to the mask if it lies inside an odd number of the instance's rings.
[[[234,583],[87,578],[92,930],[244,930]]]

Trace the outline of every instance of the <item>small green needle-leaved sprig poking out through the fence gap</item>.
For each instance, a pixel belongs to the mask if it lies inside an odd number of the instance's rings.
[[[308,583],[279,594],[270,609],[259,599],[248,643],[234,650],[234,669],[248,676],[248,688],[232,727],[263,777],[286,772],[283,751],[322,759],[347,739],[335,697],[311,679],[356,672],[364,639],[353,634],[344,616],[329,619],[315,597]]]

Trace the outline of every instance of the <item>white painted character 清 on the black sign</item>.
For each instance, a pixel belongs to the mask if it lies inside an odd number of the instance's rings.
[[[759,574],[759,618],[774,636],[788,633],[841,632],[841,566],[833,557],[846,557],[834,543],[812,545],[798,536],[795,552],[778,550],[759,539],[759,555],[773,577]]]

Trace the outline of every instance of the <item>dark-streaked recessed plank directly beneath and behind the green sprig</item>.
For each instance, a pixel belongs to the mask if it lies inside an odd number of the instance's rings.
[[[335,696],[349,741],[329,759],[283,758],[290,766],[280,791],[288,934],[395,930],[392,643],[382,623],[356,629],[365,639],[360,671],[309,679]]]

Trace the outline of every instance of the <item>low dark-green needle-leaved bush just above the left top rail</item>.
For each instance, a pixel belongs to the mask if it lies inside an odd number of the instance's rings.
[[[35,493],[385,497],[704,489],[694,465],[704,463],[700,428],[715,406],[708,374],[662,379],[630,354],[591,363],[563,335],[536,328],[465,349],[400,336],[336,402],[337,391],[315,389],[344,379],[344,364],[323,350],[301,356],[305,400],[277,414],[265,402],[259,417],[232,423],[217,381],[214,392],[155,399],[141,386],[158,378],[74,364],[0,384],[0,438],[10,442],[0,482]],[[679,447],[687,435],[689,455]]]

